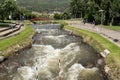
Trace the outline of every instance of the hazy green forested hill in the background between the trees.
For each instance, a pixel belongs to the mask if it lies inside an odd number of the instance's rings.
[[[34,11],[63,11],[71,0],[17,0],[21,6]]]

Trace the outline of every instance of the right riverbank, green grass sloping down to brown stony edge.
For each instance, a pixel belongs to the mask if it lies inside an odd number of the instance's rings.
[[[92,46],[98,53],[108,49],[110,54],[105,58],[106,66],[104,70],[110,80],[120,80],[120,47],[97,33],[71,26],[65,26],[64,28],[71,30],[74,34],[80,35],[84,42]]]

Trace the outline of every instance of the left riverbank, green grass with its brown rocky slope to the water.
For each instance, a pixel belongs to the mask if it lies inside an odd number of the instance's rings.
[[[25,24],[24,27],[25,29],[21,31],[19,34],[10,38],[6,38],[4,40],[0,40],[1,58],[7,58],[14,53],[18,53],[24,48],[31,47],[34,30],[27,24]]]

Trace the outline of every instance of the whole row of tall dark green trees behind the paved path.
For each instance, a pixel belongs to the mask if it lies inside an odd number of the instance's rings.
[[[120,0],[71,0],[73,17],[83,17],[89,22],[96,20],[104,24],[120,24]]]

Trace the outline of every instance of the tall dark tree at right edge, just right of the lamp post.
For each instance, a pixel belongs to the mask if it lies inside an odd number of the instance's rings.
[[[95,0],[94,0],[95,1]],[[120,17],[120,0],[101,0],[100,9],[104,10],[106,25],[112,25],[116,17]],[[117,22],[119,23],[119,21]]]

